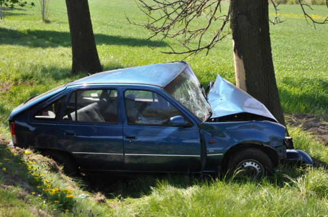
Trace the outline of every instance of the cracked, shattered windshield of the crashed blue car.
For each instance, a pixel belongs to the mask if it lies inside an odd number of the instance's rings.
[[[211,106],[201,92],[201,85],[189,65],[164,90],[202,122],[211,116]]]

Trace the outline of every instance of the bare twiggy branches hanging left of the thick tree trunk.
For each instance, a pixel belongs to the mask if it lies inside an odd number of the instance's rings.
[[[229,22],[230,11],[221,14],[221,0],[163,0],[162,2],[153,0],[153,3],[150,5],[144,0],[137,2],[138,7],[149,18],[146,24],[135,23],[128,17],[127,19],[130,23],[151,31],[152,35],[148,39],[157,35],[161,35],[160,41],[166,38],[181,37],[179,42],[185,51],[178,52],[169,46],[171,52],[162,53],[188,54],[190,56],[207,50],[208,54],[218,41],[231,33],[229,29],[227,33],[222,33],[226,23]],[[216,15],[217,13],[220,15]],[[199,20],[201,17],[206,19],[205,24]],[[211,29],[213,29],[214,36],[205,43],[205,35],[208,38]],[[206,32],[208,33],[205,34]],[[191,41],[197,41],[197,45],[191,44]]]

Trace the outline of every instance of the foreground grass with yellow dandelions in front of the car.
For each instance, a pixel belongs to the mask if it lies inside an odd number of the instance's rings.
[[[256,181],[139,175],[119,178],[109,190],[115,177],[77,182],[31,150],[0,143],[0,163],[2,216],[326,216],[328,211],[328,173],[320,168],[280,165],[274,176]],[[87,191],[85,184],[92,188]],[[57,193],[38,188],[46,185],[69,189],[73,200],[63,206]],[[105,200],[97,199],[99,190]]]

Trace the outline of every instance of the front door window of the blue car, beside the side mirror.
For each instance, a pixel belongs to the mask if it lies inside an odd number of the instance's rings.
[[[170,118],[184,116],[161,95],[146,90],[124,91],[128,124],[169,126]]]

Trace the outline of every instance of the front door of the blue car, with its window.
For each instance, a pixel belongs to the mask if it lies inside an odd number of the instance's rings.
[[[198,127],[157,91],[125,89],[123,145],[127,171],[200,171]],[[187,127],[170,127],[181,115]]]

